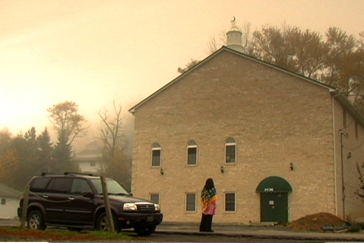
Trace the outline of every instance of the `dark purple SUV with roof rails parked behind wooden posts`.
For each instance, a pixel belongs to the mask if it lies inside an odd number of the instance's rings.
[[[139,235],[152,234],[162,222],[159,205],[132,197],[119,183],[106,179],[116,231],[134,228]],[[42,173],[33,177],[27,208],[30,229],[62,226],[72,230],[108,228],[101,178],[80,173],[55,175]],[[18,216],[21,218],[23,198]]]

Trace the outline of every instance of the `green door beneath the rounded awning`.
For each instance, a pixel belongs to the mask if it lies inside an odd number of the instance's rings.
[[[288,222],[288,193],[260,193],[260,221]]]

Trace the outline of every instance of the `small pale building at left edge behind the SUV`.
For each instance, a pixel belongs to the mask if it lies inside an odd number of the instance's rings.
[[[21,191],[0,184],[0,219],[15,219],[19,207]]]

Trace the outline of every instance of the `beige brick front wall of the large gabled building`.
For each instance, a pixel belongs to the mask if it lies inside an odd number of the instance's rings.
[[[289,220],[336,214],[332,111],[327,88],[222,51],[136,108],[133,193],[160,193],[164,221],[198,222],[199,200],[196,212],[186,212],[186,192],[199,198],[211,177],[219,195],[215,222],[259,222],[255,189],[264,178],[280,176],[293,188]],[[228,137],[237,141],[234,165],[224,164]],[[186,165],[192,139],[198,143],[197,166]],[[158,168],[151,167],[154,142],[162,146]],[[233,213],[224,212],[224,192],[236,192]]]

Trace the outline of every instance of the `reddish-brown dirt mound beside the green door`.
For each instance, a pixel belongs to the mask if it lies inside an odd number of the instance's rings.
[[[322,228],[323,225],[340,227],[343,224],[345,224],[345,222],[335,215],[329,213],[317,213],[294,220],[289,224],[289,227],[294,230],[324,232],[325,230]]]

